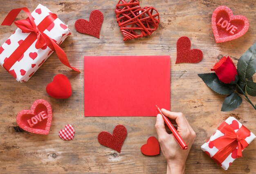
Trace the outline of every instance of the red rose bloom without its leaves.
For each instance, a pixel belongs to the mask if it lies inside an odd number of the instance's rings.
[[[212,71],[215,71],[216,75],[225,84],[230,84],[231,81],[235,81],[236,75],[238,75],[236,66],[230,57],[222,57],[220,62],[217,62]]]

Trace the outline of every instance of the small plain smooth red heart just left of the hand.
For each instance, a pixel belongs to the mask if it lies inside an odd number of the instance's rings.
[[[142,145],[141,153],[148,156],[160,154],[160,147],[156,137],[149,137],[146,144]]]

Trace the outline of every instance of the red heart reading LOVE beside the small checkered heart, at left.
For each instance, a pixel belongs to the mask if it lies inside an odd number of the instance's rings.
[[[34,134],[49,134],[52,123],[52,108],[43,100],[36,100],[30,110],[22,110],[16,117],[17,123],[23,130]]]

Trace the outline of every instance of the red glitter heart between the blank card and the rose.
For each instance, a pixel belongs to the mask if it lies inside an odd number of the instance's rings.
[[[177,40],[177,59],[179,63],[198,63],[203,58],[203,53],[199,49],[190,49],[191,42],[189,37],[182,36]]]

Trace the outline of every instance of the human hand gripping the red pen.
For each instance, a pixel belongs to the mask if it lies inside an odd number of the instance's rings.
[[[161,111],[166,117],[171,119],[171,123],[178,126],[177,131],[188,145],[187,150],[182,150],[180,145],[173,137],[173,134],[168,134],[166,132],[164,119],[162,115],[158,114],[157,121],[155,123],[155,129],[157,130],[158,141],[167,161],[167,173],[183,174],[185,170],[186,159],[195,140],[195,131],[191,128],[189,122],[186,120],[182,113],[170,112],[166,109],[161,109]]]

